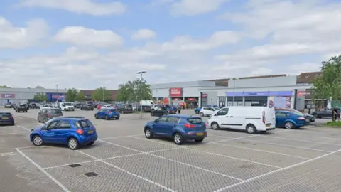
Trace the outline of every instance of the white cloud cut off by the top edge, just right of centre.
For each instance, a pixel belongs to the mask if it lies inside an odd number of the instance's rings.
[[[195,16],[216,11],[228,0],[180,0],[171,5],[171,14],[175,16]]]

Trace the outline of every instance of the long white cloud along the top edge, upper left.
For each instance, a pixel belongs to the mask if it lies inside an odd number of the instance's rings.
[[[64,9],[77,14],[90,14],[93,16],[123,14],[126,11],[124,4],[119,1],[98,3],[92,0],[22,0],[19,6]]]

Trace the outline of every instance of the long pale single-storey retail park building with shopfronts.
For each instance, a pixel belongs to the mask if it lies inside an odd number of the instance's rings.
[[[314,78],[320,72],[300,75],[267,75],[247,78],[171,82],[151,85],[156,103],[176,105],[185,103],[194,108],[202,105],[224,106],[274,106],[295,108],[305,112],[330,107],[327,100],[311,101]],[[91,100],[93,90],[82,90]],[[117,90],[112,91],[115,100]],[[48,101],[65,100],[67,90],[0,88],[0,105],[8,102],[33,101],[34,95],[45,94]]]

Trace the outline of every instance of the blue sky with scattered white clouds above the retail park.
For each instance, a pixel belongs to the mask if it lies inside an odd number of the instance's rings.
[[[116,89],[319,71],[337,0],[1,0],[0,85]]]

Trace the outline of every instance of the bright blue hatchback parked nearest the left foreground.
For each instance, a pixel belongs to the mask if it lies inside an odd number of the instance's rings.
[[[92,145],[97,140],[96,128],[88,119],[55,118],[31,130],[34,145],[65,144],[75,150],[80,146]]]

